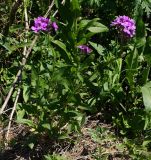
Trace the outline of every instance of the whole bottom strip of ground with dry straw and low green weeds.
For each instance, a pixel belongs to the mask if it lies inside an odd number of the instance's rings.
[[[138,141],[139,141],[138,137]],[[45,135],[34,135],[23,125],[12,128],[9,145],[1,152],[5,160],[132,160],[151,156],[136,139],[128,140],[118,134],[117,128],[102,123],[100,115],[89,116],[81,133],[55,140]],[[2,136],[0,141],[2,142]],[[29,142],[34,141],[34,144]],[[2,143],[1,143],[2,144]],[[2,146],[1,146],[2,147]],[[32,148],[32,149],[31,149]]]

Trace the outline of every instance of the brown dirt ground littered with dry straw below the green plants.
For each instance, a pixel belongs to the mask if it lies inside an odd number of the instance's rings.
[[[0,160],[41,160],[47,154],[61,155],[66,160],[130,159],[126,148],[119,149],[122,142],[115,136],[114,128],[96,117],[88,117],[81,133],[74,133],[69,139],[54,141],[48,136],[36,137],[38,143],[32,150],[27,146],[31,138],[28,127],[18,125],[11,128],[9,145],[5,149],[4,136],[5,132],[1,132]]]

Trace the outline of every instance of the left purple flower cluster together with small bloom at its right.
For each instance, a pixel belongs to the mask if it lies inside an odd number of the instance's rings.
[[[51,22],[49,18],[45,17],[38,17],[34,20],[34,26],[31,27],[31,29],[38,33],[40,31],[49,31],[51,27],[57,31],[58,25],[56,22]]]

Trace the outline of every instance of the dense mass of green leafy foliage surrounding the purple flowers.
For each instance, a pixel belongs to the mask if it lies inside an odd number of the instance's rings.
[[[44,15],[50,5],[49,1],[24,0],[14,8],[16,3],[0,2],[0,21],[4,22],[0,24],[0,105],[22,67],[24,49],[35,36],[24,29],[24,17],[28,16],[30,28],[33,19]],[[150,0],[66,0],[63,4],[55,0],[49,18],[58,23],[59,30],[37,34],[7,105],[8,110],[12,108],[16,89],[21,88],[16,122],[28,125],[35,135],[63,139],[73,131],[80,132],[88,114],[101,112],[119,128],[120,135],[145,137],[134,145],[134,156],[139,155],[137,147],[146,143],[143,150],[147,152],[151,138],[146,136],[151,126],[150,4]],[[110,29],[118,15],[135,19],[134,38],[121,39]],[[80,45],[88,45],[92,52],[81,52]],[[126,143],[131,150],[133,143]],[[29,146],[33,148],[34,142]]]

